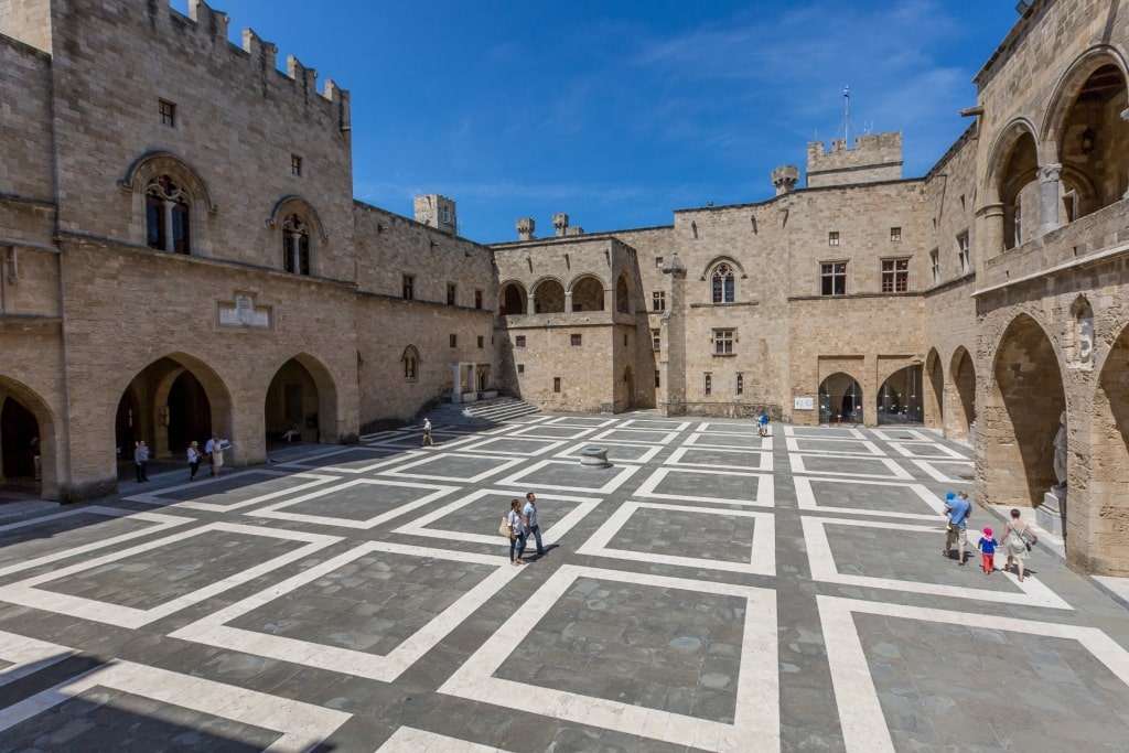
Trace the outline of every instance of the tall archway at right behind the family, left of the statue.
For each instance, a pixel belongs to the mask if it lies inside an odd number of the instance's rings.
[[[1021,314],[996,349],[983,428],[977,432],[981,475],[991,470],[990,502],[1035,506],[1058,482],[1054,435],[1064,410],[1054,347],[1035,319]]]

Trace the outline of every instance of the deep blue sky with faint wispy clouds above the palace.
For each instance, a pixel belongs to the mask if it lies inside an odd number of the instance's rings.
[[[357,199],[458,207],[460,234],[514,240],[673,222],[762,201],[808,141],[903,131],[924,175],[969,125],[971,79],[1014,0],[213,0],[352,95]],[[187,0],[174,0],[185,11]],[[841,138],[841,137],[840,137]]]

